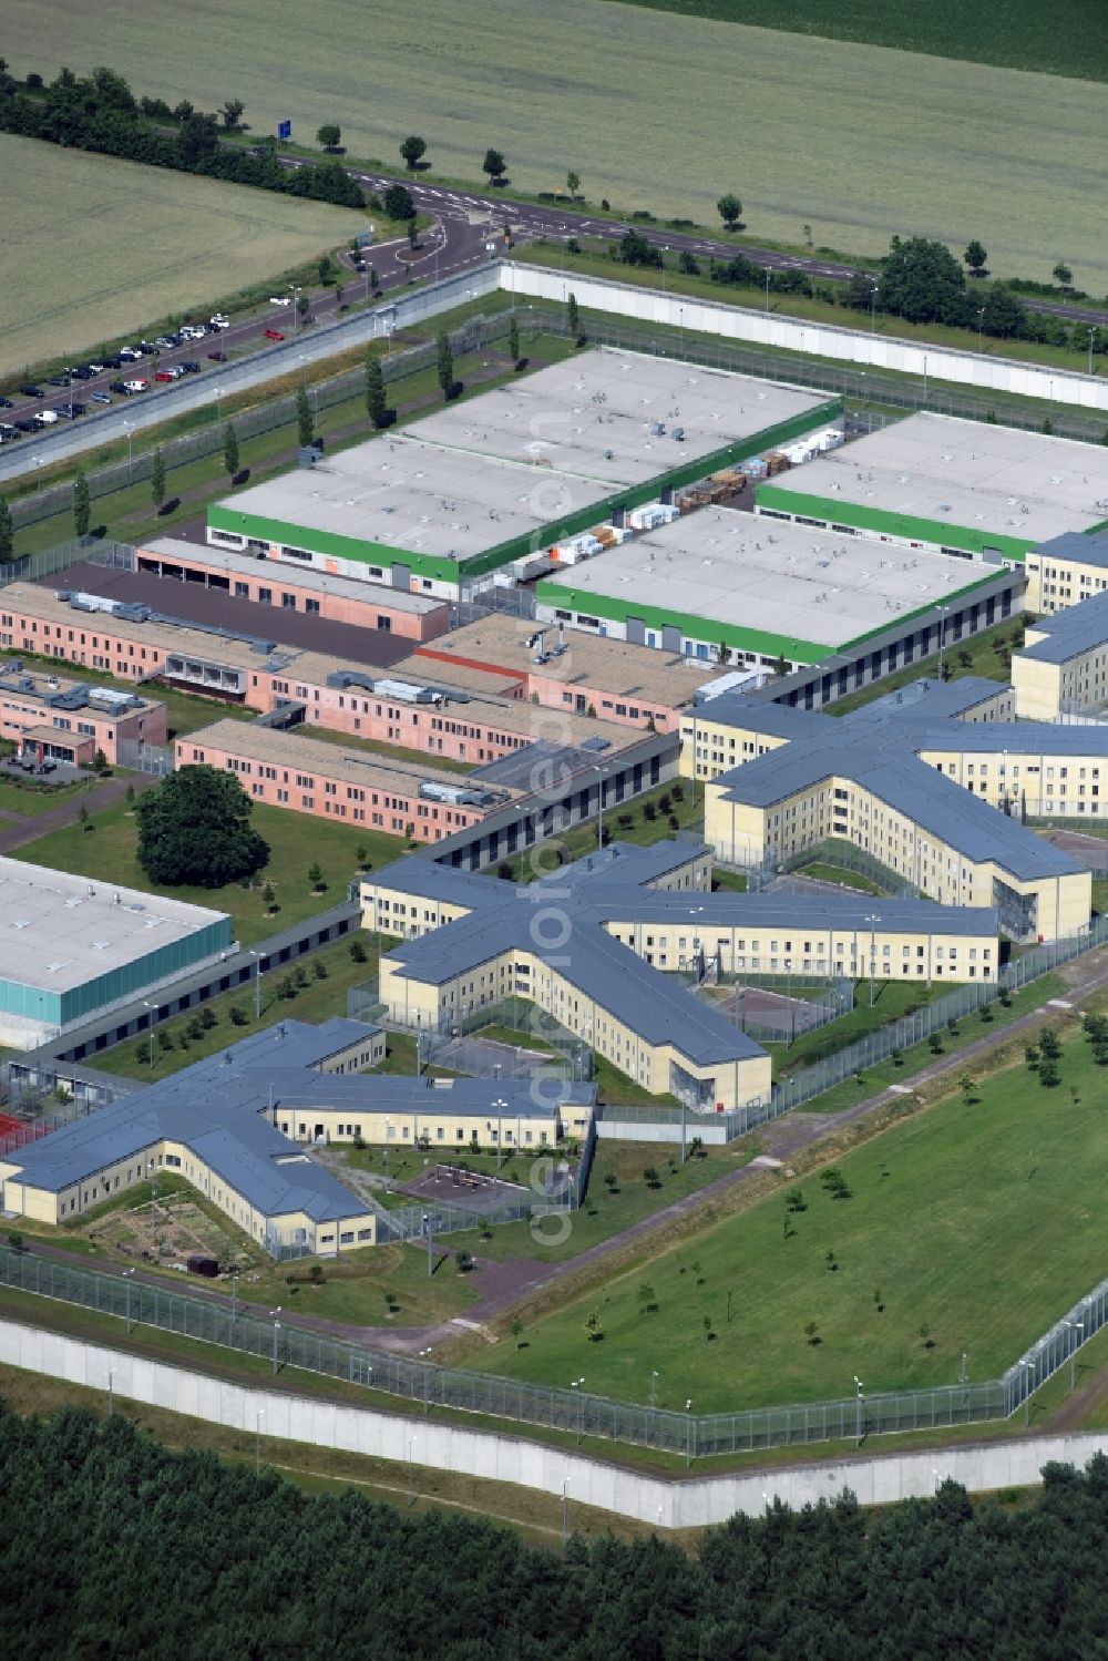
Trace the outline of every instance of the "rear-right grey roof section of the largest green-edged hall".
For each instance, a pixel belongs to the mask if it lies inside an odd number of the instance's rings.
[[[473,455],[638,485],[819,409],[801,392],[723,369],[600,347],[404,429]],[[651,432],[663,425],[664,432]],[[683,439],[674,439],[679,429]]]

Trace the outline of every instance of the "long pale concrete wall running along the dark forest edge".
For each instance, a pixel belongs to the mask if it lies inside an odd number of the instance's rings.
[[[419,1467],[510,1482],[550,1495],[561,1495],[565,1482],[573,1505],[593,1505],[656,1528],[723,1523],[736,1512],[757,1516],[772,1500],[784,1500],[797,1508],[821,1498],[831,1500],[844,1488],[851,1488],[862,1505],[889,1505],[932,1495],[949,1477],[972,1493],[1030,1487],[1038,1483],[1047,1463],[1080,1467],[1093,1453],[1108,1452],[1108,1433],[1012,1437],[972,1447],[889,1452],[877,1458],[817,1460],[731,1477],[666,1480],[522,1437],[346,1407],[261,1385],[226,1384],[13,1320],[0,1322],[0,1362],[103,1392],[111,1370],[111,1387],[120,1397],[228,1425],[244,1435],[256,1433],[257,1415],[262,1414],[264,1437],[342,1448],[397,1463],[410,1457]]]

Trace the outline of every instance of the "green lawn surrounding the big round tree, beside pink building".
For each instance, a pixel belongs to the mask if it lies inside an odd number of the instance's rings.
[[[400,840],[379,830],[334,826],[281,807],[257,806],[251,822],[272,850],[264,879],[277,894],[276,917],[266,917],[259,889],[243,889],[238,882],[224,889],[158,889],[135,859],[135,817],[123,802],[95,814],[90,830],[76,824],[28,842],[20,859],[229,912],[236,937],[249,945],[342,900],[347,882],[357,875],[357,849],[369,849],[374,865],[389,865],[404,854]],[[307,880],[316,860],[322,865],[326,894],[312,894]]]

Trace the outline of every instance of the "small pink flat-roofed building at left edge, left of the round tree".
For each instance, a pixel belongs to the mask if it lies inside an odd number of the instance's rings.
[[[0,739],[38,761],[86,767],[101,751],[111,766],[133,764],[166,737],[166,706],[153,698],[0,661]]]

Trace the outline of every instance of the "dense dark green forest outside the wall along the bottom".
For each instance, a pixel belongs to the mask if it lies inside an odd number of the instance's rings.
[[[1108,1460],[1048,1465],[1017,1508],[852,1495],[708,1530],[525,1546],[483,1518],[309,1497],[169,1452],[123,1414],[0,1407],[8,1661],[1042,1661],[1103,1653]]]

